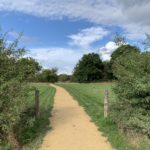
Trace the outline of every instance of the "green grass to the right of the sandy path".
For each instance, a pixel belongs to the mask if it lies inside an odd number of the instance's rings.
[[[58,85],[64,87],[78,101],[78,103],[84,107],[92,121],[98,126],[99,130],[102,131],[103,135],[108,137],[108,140],[115,149],[134,149],[127,144],[127,137],[119,132],[117,126],[111,121],[111,119],[104,119],[103,117],[104,89],[109,89],[110,91],[110,103],[115,102],[115,96],[112,92],[111,84],[66,83]]]

